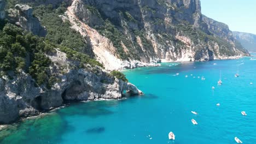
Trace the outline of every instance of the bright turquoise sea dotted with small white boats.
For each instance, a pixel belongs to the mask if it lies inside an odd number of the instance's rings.
[[[220,70],[222,86],[217,85]],[[237,70],[240,77],[234,77]],[[127,70],[144,96],[72,104],[1,131],[0,143],[224,144],[236,143],[235,136],[256,143],[255,71],[256,61],[249,58]],[[199,124],[193,125],[192,118]],[[170,131],[175,141],[168,140]]]

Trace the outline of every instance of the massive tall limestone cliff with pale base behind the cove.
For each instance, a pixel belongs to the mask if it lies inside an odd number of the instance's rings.
[[[78,31],[96,30],[107,39],[90,37],[98,41],[92,44],[93,49],[98,45],[109,47],[103,50],[114,52],[111,55],[120,63],[210,61],[248,55],[228,26],[201,14],[199,0],[75,0],[66,14]],[[96,56],[102,53],[94,52]],[[104,57],[98,57],[98,61],[111,63]]]

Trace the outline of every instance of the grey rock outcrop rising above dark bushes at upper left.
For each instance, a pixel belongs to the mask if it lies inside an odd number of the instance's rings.
[[[46,29],[40,25],[37,17],[33,16],[33,9],[28,5],[16,4],[15,9],[8,11],[8,19],[26,31],[44,37]]]

